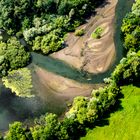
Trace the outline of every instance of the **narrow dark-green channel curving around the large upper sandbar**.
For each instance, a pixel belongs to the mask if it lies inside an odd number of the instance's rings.
[[[61,75],[63,77],[73,79],[77,82],[81,83],[92,83],[97,84],[103,82],[103,79],[108,77],[111,72],[114,70],[116,65],[119,63],[121,58],[123,57],[123,43],[121,41],[121,25],[122,20],[127,12],[130,11],[132,4],[135,0],[118,0],[118,4],[116,7],[116,21],[115,21],[115,34],[114,41],[116,47],[116,60],[109,68],[108,71],[100,74],[90,74],[83,71],[78,71],[77,69],[71,67],[65,62],[54,59],[48,56],[43,56],[41,54],[37,54],[32,52],[32,62],[39,67],[46,69],[47,71],[53,72],[55,74]]]

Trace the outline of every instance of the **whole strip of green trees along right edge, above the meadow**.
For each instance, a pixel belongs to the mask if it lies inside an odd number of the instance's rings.
[[[132,7],[132,11],[126,15],[122,25],[122,37],[124,47],[128,51],[127,57],[123,58],[111,75],[111,79],[118,85],[136,82],[140,76],[140,17],[133,11],[139,10],[140,1]]]

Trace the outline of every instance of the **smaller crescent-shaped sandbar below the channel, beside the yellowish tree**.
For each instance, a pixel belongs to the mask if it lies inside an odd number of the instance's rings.
[[[52,94],[58,100],[69,101],[75,96],[89,96],[93,89],[99,88],[99,84],[81,84],[74,80],[64,78],[35,66],[33,72],[34,87],[42,99],[47,99]],[[63,97],[63,98],[62,98]]]

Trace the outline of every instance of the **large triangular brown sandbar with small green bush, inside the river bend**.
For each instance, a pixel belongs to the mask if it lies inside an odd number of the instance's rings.
[[[85,30],[85,35],[76,37],[69,33],[67,48],[53,53],[51,56],[90,73],[103,73],[108,70],[115,60],[114,22],[115,8],[118,0],[106,0],[106,3],[97,9],[94,17],[79,29]],[[92,32],[102,27],[104,32],[100,39],[93,39]]]

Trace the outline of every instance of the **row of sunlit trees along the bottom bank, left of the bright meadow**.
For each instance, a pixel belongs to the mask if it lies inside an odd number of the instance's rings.
[[[10,128],[6,137],[10,135],[12,137],[11,140],[14,140],[13,137],[15,138],[21,135],[22,132],[23,137],[31,134],[30,136],[32,136],[31,139],[33,140],[78,139],[85,132],[86,127],[89,127],[91,124],[93,125],[97,118],[102,116],[104,111],[107,111],[111,105],[115,104],[115,97],[118,91],[118,87],[110,85],[104,89],[101,88],[93,91],[91,98],[76,97],[73,102],[73,107],[62,121],[58,120],[54,114],[46,114],[39,119],[35,119],[35,125],[27,133],[23,133],[23,130],[17,132],[16,129],[14,129],[16,132],[13,132]]]

